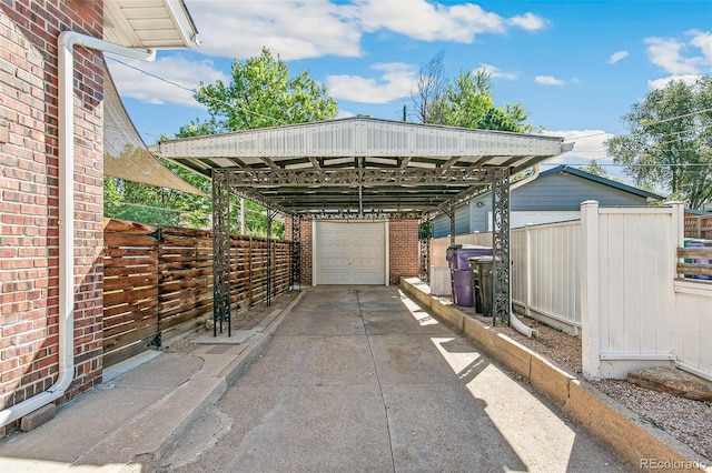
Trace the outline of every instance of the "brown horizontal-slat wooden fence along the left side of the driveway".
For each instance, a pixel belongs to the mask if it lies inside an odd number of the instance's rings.
[[[209,231],[103,222],[103,365],[126,360],[176,325],[212,314],[212,235]],[[231,310],[289,290],[289,243],[233,235]]]

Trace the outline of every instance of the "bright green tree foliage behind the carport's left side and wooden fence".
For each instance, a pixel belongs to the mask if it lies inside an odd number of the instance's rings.
[[[198,137],[328,120],[336,117],[336,101],[326,94],[326,87],[307,72],[291,77],[286,62],[276,59],[268,49],[244,62],[235,60],[230,83],[200,83],[195,99],[205,104],[210,118],[196,119],[181,127],[175,138]],[[161,137],[162,140],[171,137]],[[211,194],[210,179],[196,174],[172,161],[161,160],[175,174]],[[165,225],[210,228],[211,199],[169,189],[105,179],[105,214],[107,217]],[[230,227],[239,233],[241,205],[245,204],[245,233],[266,236],[266,210],[237,195],[230,195]],[[284,224],[273,221],[273,235],[284,238]]]

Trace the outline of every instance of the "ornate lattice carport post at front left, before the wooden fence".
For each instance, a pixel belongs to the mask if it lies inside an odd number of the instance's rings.
[[[231,335],[230,322],[230,185],[229,171],[212,170],[212,336],[218,324],[227,321],[227,336]]]

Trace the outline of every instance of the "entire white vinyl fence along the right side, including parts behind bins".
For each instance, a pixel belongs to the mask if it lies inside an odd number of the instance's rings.
[[[512,300],[582,336],[586,378],[676,365],[712,381],[712,281],[679,279],[683,207],[582,204],[580,222],[512,230]],[[492,244],[492,233],[457,243]],[[449,238],[433,240],[445,250]]]

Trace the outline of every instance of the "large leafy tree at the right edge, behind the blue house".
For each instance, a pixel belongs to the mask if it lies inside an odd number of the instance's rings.
[[[637,185],[680,195],[691,209],[712,201],[712,78],[671,81],[623,117],[629,133],[605,147]]]

